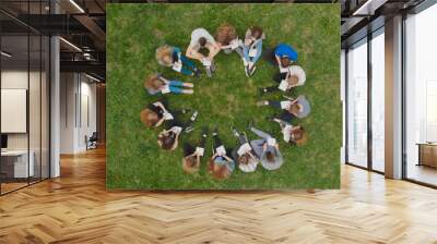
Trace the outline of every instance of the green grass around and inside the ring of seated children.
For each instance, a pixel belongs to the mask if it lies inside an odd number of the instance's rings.
[[[233,24],[239,37],[250,25],[264,28],[264,48],[279,42],[291,44],[298,52],[298,64],[307,74],[304,86],[293,96],[306,95],[311,103],[309,117],[295,123],[309,132],[303,147],[282,141],[280,127],[265,117],[280,111],[257,107],[265,98],[258,88],[273,84],[277,68],[259,61],[256,74],[247,78],[237,53],[216,56],[216,73],[208,78],[192,78],[160,66],[155,49],[163,44],[188,47],[191,30],[206,28],[212,35],[223,22]],[[336,188],[340,187],[340,146],[342,107],[340,101],[340,5],[339,4],[107,4],[107,187],[129,190],[260,190],[260,188]],[[201,66],[197,62],[198,66]],[[257,127],[270,132],[280,143],[284,164],[267,171],[261,164],[253,173],[236,169],[224,181],[206,172],[212,139],[206,146],[198,174],[181,169],[181,146],[163,151],[156,131],[140,121],[140,111],[158,99],[143,89],[144,78],[161,72],[167,78],[193,82],[194,95],[170,95],[169,107],[199,111],[196,130],[184,134],[196,142],[200,129],[218,127],[222,141],[235,146],[231,126],[244,130],[252,120]],[[250,139],[256,138],[247,132]]]

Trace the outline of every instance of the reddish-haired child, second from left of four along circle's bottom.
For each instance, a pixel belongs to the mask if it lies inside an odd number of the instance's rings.
[[[216,180],[227,179],[235,170],[235,161],[228,155],[232,150],[225,149],[222,141],[218,138],[216,129],[212,136],[214,138],[214,149],[208,167],[209,172]]]

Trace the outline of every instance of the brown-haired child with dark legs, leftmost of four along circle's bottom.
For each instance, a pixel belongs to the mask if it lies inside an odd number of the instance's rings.
[[[202,131],[202,138],[198,146],[192,146],[189,143],[184,144],[184,159],[182,159],[182,169],[187,173],[197,173],[200,168],[200,159],[204,155],[204,146],[206,143],[206,129]]]

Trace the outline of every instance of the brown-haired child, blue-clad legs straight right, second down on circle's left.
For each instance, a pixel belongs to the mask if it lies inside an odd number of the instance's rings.
[[[144,88],[150,95],[156,94],[193,94],[192,83],[184,83],[179,81],[169,81],[164,78],[161,74],[154,74],[149,76],[147,81],[144,83]],[[186,89],[190,88],[190,89]]]

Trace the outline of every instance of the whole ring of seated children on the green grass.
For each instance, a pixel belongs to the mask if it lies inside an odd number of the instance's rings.
[[[262,41],[265,38],[263,29],[259,26],[251,26],[247,29],[245,39],[240,40],[234,26],[222,24],[215,38],[204,28],[197,28],[191,33],[191,41],[185,54],[180,48],[164,45],[156,49],[156,60],[161,65],[172,68],[174,71],[199,77],[202,73],[190,60],[194,59],[202,63],[205,73],[212,77],[214,56],[221,50],[229,54],[236,52],[243,60],[246,75],[253,75],[257,61],[261,58]],[[208,53],[202,54],[202,49]],[[203,52],[203,51],[202,51]],[[279,66],[279,73],[273,77],[279,85],[260,88],[260,93],[272,93],[275,90],[290,91],[296,86],[305,84],[306,75],[304,70],[295,65],[297,52],[286,44],[280,44],[274,48],[264,50],[263,59]],[[172,81],[162,75],[152,75],[146,78],[144,88],[151,94],[192,94],[193,84]],[[292,125],[293,118],[305,118],[310,111],[310,106],[305,96],[297,98],[286,97],[283,101],[263,100],[257,106],[272,106],[283,110],[281,115],[272,118],[277,122],[283,134],[283,139],[291,144],[300,146],[307,141],[307,133],[302,125]],[[186,110],[170,111],[165,99],[149,105],[141,111],[141,121],[149,127],[157,127],[164,124],[164,130],[158,134],[157,143],[164,150],[175,150],[178,146],[179,136],[182,132],[192,131],[192,122],[197,119],[198,112],[193,111],[188,122],[181,122],[178,117],[187,113]],[[220,137],[217,129],[213,130],[213,155],[209,160],[208,171],[214,179],[229,178],[236,166],[243,172],[253,172],[260,163],[265,170],[277,170],[283,164],[283,157],[275,138],[250,124],[250,130],[259,138],[248,141],[245,132],[232,129],[237,146],[234,149],[226,148]],[[201,158],[204,155],[204,146],[209,137],[208,129],[202,129],[201,138],[197,144],[185,143],[182,169],[187,173],[196,173],[200,169]]]

